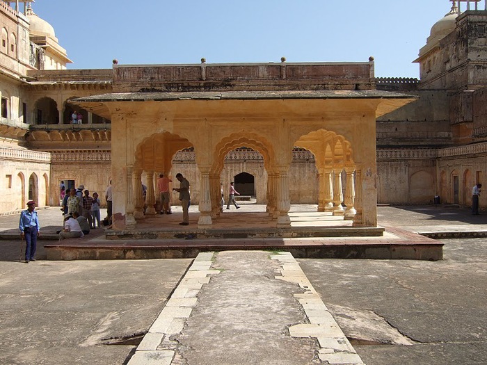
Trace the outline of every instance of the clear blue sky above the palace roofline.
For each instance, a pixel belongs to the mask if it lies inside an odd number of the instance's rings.
[[[484,0],[485,1],[485,0]],[[484,1],[481,8],[484,9]],[[412,63],[449,0],[36,0],[70,69],[120,64],[365,62],[419,77]]]

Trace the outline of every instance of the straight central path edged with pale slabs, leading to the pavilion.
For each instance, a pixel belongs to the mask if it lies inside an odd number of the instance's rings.
[[[216,261],[210,261],[208,269],[209,257]],[[191,274],[198,272],[208,279],[199,293],[184,288]],[[252,281],[263,277],[264,283],[246,287],[248,275]],[[181,283],[128,365],[363,364],[289,252],[205,252],[198,255]],[[252,292],[255,295],[249,296]],[[278,317],[269,312],[270,307]],[[280,324],[274,328],[276,321]],[[263,344],[265,353],[258,349]],[[223,353],[216,355],[221,346]],[[248,354],[250,348],[255,355]]]

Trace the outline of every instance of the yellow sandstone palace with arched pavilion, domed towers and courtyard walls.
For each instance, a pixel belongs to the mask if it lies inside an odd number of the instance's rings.
[[[372,58],[156,67],[114,62],[108,70],[66,70],[71,60],[52,26],[33,13],[31,0],[0,1],[0,213],[22,209],[30,199],[58,204],[61,181],[103,195],[113,179],[119,194],[114,211],[125,227],[127,213],[143,218],[138,181],[149,187],[146,213],[154,213],[150,186],[159,172],[189,178],[193,202],[203,209],[202,226],[218,216],[220,181],[235,181],[237,190],[267,204],[284,226],[287,204],[318,204],[319,211],[346,216],[343,203],[353,208],[348,218],[357,225],[375,224],[376,197],[379,203],[418,204],[438,195],[468,206],[473,184],[486,173],[487,12],[478,2],[464,1],[462,10],[454,1],[433,25],[416,60],[417,80],[376,79]],[[188,98],[192,111],[198,104],[218,108],[207,115],[183,113]],[[263,118],[252,115],[255,110],[273,113]],[[82,124],[72,124],[73,111],[81,113]],[[175,115],[206,117],[205,128],[184,127]],[[281,124],[262,132],[245,127],[266,118]],[[130,138],[118,128],[127,120],[136,126]],[[280,135],[282,129],[289,134]],[[357,133],[363,140],[369,132],[362,143]],[[215,156],[198,145],[202,136],[218,150]],[[369,159],[375,148],[376,160],[375,154]],[[367,151],[367,161],[360,161],[360,151]],[[281,185],[286,196],[277,193]],[[355,214],[358,187],[370,200],[365,220]]]

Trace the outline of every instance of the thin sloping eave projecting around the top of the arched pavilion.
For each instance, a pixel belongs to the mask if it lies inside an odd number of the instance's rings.
[[[71,99],[70,103],[81,106],[96,115],[111,119],[108,104],[138,102],[179,101],[375,101],[376,117],[381,117],[401,106],[415,101],[414,95],[384,90],[280,90],[280,91],[194,91],[194,92],[113,92]]]

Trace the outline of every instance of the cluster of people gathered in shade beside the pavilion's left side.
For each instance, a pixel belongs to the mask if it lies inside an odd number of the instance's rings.
[[[95,192],[93,197],[90,196],[90,190],[85,190],[84,185],[66,189],[61,206],[64,228],[59,232],[60,237],[82,237],[90,233],[90,229],[102,227],[99,206],[98,193]]]

